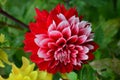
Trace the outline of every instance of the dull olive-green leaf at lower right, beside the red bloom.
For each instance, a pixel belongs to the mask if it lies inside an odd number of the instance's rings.
[[[105,58],[101,60],[95,60],[91,62],[90,65],[100,75],[104,75],[102,74],[104,72],[103,70],[105,70],[107,73],[111,72],[110,69],[114,71],[116,74],[120,75],[120,60],[117,58],[113,58],[113,59]]]

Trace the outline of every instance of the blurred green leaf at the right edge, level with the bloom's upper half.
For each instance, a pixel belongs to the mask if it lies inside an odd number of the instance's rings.
[[[118,32],[119,27],[120,19],[111,19],[102,25],[102,29],[104,32],[103,44],[105,44],[105,46],[107,46],[107,44],[112,41],[112,38]]]

